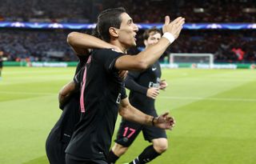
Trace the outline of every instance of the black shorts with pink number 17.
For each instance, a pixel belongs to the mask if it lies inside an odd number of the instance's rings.
[[[154,117],[158,116],[155,110],[152,111],[149,115]],[[114,140],[114,142],[122,146],[129,147],[134,142],[135,138],[138,136],[141,130],[144,139],[149,142],[155,138],[167,138],[166,130],[162,130],[155,126],[143,126],[141,124],[122,119],[118,129],[117,138]]]

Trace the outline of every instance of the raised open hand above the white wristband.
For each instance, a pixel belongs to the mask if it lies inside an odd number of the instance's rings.
[[[174,19],[173,22],[170,22],[170,17],[166,16],[165,18],[165,24],[162,26],[162,33],[165,34],[166,32],[169,32],[174,35],[174,38],[178,38],[178,35],[180,34],[183,24],[185,23],[185,18],[178,17]]]

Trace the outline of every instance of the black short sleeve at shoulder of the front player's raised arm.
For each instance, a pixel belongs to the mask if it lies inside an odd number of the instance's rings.
[[[117,71],[114,67],[115,61],[123,54],[110,49],[94,50],[94,57],[102,62],[108,72]]]

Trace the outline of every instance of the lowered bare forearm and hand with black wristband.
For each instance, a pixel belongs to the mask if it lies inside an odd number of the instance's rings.
[[[174,118],[170,117],[168,113],[162,114],[157,118],[142,113],[140,110],[130,105],[128,98],[121,100],[119,107],[119,114],[131,122],[138,122],[147,126],[157,126],[162,129],[171,130],[174,127]]]

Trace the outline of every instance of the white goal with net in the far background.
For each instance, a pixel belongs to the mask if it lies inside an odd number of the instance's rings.
[[[171,53],[170,65],[190,65],[195,68],[213,68],[214,54]]]

